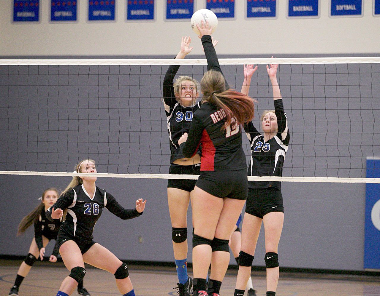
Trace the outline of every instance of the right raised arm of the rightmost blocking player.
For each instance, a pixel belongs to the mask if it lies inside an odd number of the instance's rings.
[[[273,58],[273,57],[272,57]],[[280,86],[277,82],[277,69],[278,64],[271,64],[266,66],[266,71],[268,72],[269,79],[272,83],[273,90],[273,101],[274,101],[274,112],[277,117],[277,126],[278,126],[278,135],[281,136],[281,139],[285,142],[289,142],[289,130],[288,130],[288,119],[286,113],[284,112],[284,107],[282,103],[282,96],[280,92]]]

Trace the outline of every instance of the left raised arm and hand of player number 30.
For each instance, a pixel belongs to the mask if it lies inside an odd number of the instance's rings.
[[[190,47],[191,38],[182,37],[180,50],[175,58],[185,58],[187,54],[189,54],[193,47]],[[171,65],[166,71],[164,82],[163,82],[163,99],[164,99],[164,107],[167,113],[170,113],[173,109],[174,105],[177,103],[176,96],[174,94],[174,77],[177,74],[180,65]]]

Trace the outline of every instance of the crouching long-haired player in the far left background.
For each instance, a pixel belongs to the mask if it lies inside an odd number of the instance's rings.
[[[30,244],[28,255],[22,261],[19,270],[17,271],[16,280],[13,287],[9,291],[9,296],[18,296],[19,288],[22,281],[28,275],[33,264],[40,258],[43,260],[45,247],[52,240],[57,240],[57,234],[59,228],[62,225],[64,217],[59,220],[51,222],[46,219],[45,212],[52,206],[58,199],[58,190],[54,187],[50,187],[44,190],[42,196],[39,198],[41,203],[33,209],[32,212],[27,214],[22,218],[17,235],[21,235],[25,232],[32,224],[34,224],[34,238]],[[57,262],[58,249],[57,244],[54,246],[53,253],[49,257],[50,262]],[[78,283],[78,294],[79,295],[90,295],[86,288],[83,287],[83,281]]]

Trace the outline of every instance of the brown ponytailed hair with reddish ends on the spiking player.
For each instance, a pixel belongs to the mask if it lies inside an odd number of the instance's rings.
[[[210,70],[204,73],[201,80],[202,101],[208,101],[226,113],[226,129],[231,125],[233,118],[237,124],[252,121],[255,115],[254,100],[236,90],[226,90],[225,78],[219,71]]]

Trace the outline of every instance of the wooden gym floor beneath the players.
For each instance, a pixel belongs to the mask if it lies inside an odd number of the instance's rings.
[[[14,283],[21,261],[0,261],[0,296],[8,295]],[[53,267],[54,266],[54,267]],[[92,296],[120,295],[114,276],[108,272],[87,267],[84,284]],[[138,296],[176,295],[175,269],[147,266],[130,266],[130,277]],[[36,263],[19,290],[20,296],[55,296],[60,283],[68,275],[62,263]],[[265,296],[264,272],[252,273],[253,285],[258,296]],[[236,271],[228,271],[221,296],[233,296]],[[76,295],[76,293],[73,293]],[[380,296],[379,277],[326,276],[304,273],[280,273],[276,296]]]

